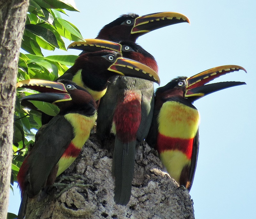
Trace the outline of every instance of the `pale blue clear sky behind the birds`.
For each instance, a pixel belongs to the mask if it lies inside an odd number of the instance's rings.
[[[158,3],[157,3],[158,2]],[[160,3],[159,3],[160,2]],[[164,27],[141,36],[139,43],[154,55],[161,86],[177,76],[192,76],[206,69],[235,64],[247,70],[218,81],[247,85],[218,91],[195,101],[201,115],[200,149],[190,191],[196,219],[255,217],[255,98],[256,31],[254,1],[83,1],[80,12],[63,16],[84,38],[95,38],[102,26],[121,14],[145,15],[175,11],[191,22]],[[67,42],[67,46],[68,46]],[[44,55],[75,54],[56,50]],[[156,85],[156,87],[158,87]],[[19,190],[10,193],[9,212],[19,209]]]

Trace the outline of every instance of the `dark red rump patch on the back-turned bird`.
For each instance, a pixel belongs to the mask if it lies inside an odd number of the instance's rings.
[[[123,102],[116,106],[113,121],[116,135],[125,143],[136,140],[141,120],[141,96],[134,91],[125,91]]]

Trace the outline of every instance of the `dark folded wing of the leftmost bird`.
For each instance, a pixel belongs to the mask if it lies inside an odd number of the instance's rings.
[[[73,139],[73,127],[64,116],[55,116],[43,130],[28,155],[28,196],[34,196],[45,186],[52,168]],[[31,179],[31,180],[30,180]]]

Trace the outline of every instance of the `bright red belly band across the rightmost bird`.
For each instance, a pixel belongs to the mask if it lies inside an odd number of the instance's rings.
[[[186,154],[188,159],[192,157],[194,138],[182,139],[182,138],[172,138],[158,133],[157,136],[157,150],[159,153],[166,150],[180,150],[182,153]]]

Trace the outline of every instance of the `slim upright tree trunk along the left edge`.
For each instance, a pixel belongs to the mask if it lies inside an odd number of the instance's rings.
[[[20,44],[28,0],[0,1],[0,218],[6,218],[11,164],[13,113]]]

